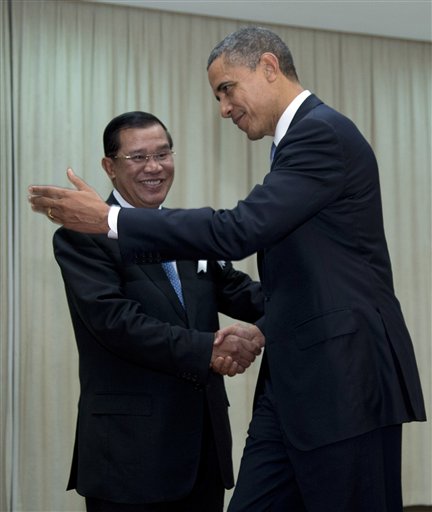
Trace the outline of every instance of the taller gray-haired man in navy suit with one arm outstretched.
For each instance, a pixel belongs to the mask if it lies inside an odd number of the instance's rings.
[[[266,350],[229,511],[400,512],[401,425],[425,410],[373,150],[303,89],[271,31],[225,38],[208,75],[223,117],[273,137],[270,173],[236,208],[108,213],[69,170],[78,191],[32,187],[33,209],[71,229],[110,226],[126,261],[259,251]]]

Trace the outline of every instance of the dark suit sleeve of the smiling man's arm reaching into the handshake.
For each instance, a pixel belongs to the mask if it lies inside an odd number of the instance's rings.
[[[53,243],[78,345],[82,339],[91,338],[133,364],[207,380],[214,333],[170,325],[146,315],[140,302],[126,295],[128,270],[115,241],[61,228]],[[138,284],[143,294],[157,292],[144,281]],[[161,295],[157,296],[161,308],[171,309]]]

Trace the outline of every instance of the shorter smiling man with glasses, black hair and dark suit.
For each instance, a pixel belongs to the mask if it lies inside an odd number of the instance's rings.
[[[159,208],[174,177],[172,139],[151,114],[128,112],[104,132],[108,203]],[[253,342],[237,327],[213,346],[218,311],[253,322],[259,283],[230,262],[177,261],[178,296],[162,265],[124,265],[118,242],[60,228],[54,251],[79,350],[81,395],[68,488],[91,512],[222,512],[233,486],[228,399],[209,368]],[[254,346],[254,343],[257,346]],[[241,351],[241,346],[240,346]],[[249,352],[251,352],[249,354]]]

